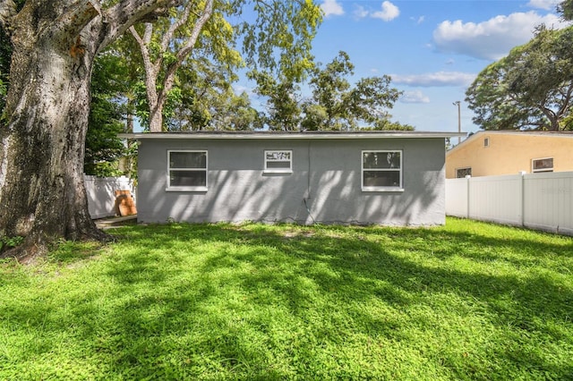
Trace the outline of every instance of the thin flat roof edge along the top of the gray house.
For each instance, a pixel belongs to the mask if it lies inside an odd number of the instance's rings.
[[[190,132],[138,132],[120,133],[117,136],[135,140],[169,140],[169,139],[215,139],[215,140],[337,140],[368,138],[452,138],[465,137],[466,132],[432,132],[432,131],[190,131]]]

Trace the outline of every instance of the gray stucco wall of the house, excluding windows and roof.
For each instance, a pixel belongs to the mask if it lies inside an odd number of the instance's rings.
[[[208,190],[166,191],[167,150],[207,149]],[[266,149],[292,174],[263,174]],[[363,149],[402,149],[404,191],[362,191]],[[444,140],[141,140],[138,220],[432,225],[445,223]],[[306,202],[305,202],[306,201]],[[308,210],[307,210],[308,208]],[[310,211],[310,214],[309,214]]]

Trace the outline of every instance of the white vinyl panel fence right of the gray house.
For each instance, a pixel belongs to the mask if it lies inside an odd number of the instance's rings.
[[[446,214],[573,235],[573,172],[446,179]]]

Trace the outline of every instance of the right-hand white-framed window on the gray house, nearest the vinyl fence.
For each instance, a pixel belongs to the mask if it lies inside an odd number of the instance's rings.
[[[362,190],[404,190],[402,151],[362,151]]]

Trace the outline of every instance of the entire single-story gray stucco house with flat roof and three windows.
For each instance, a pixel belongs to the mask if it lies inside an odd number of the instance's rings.
[[[138,140],[143,223],[445,223],[457,132],[194,131]]]

